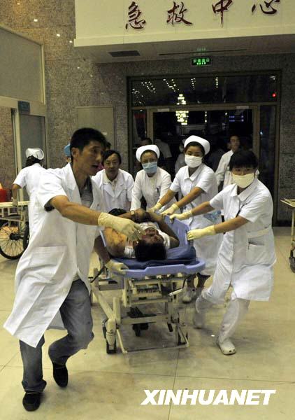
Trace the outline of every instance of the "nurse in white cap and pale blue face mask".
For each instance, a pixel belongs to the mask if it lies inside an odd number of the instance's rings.
[[[159,156],[159,148],[154,144],[147,144],[147,146],[141,146],[137,149],[136,159],[138,162],[141,162],[143,169],[136,174],[132,191],[131,210],[141,208],[142,197],[147,202],[147,209],[154,207],[171,186],[170,174],[158,167]],[[168,200],[168,202],[170,201]]]

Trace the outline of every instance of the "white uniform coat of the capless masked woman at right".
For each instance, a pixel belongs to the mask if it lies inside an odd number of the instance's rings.
[[[210,200],[210,206],[224,209],[225,220],[239,215],[249,222],[223,235],[213,285],[203,297],[221,303],[231,285],[239,299],[268,300],[275,263],[271,193],[254,179],[239,195],[236,184],[228,186]]]

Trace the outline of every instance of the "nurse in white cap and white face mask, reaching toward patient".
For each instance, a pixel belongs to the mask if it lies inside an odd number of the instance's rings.
[[[187,212],[204,200],[211,200],[217,194],[215,173],[203,163],[203,157],[209,151],[210,144],[207,140],[197,136],[190,136],[186,139],[185,162],[187,166],[180,168],[168,193],[154,206],[154,211],[161,209],[170,202],[171,198],[178,192],[182,193],[183,198],[164,211],[163,214],[171,215],[182,207]],[[182,220],[181,214],[175,215],[175,217]],[[217,218],[217,223],[220,221],[221,218]],[[189,218],[186,223],[191,229],[206,228],[206,226],[211,224],[203,216],[194,219]],[[194,241],[196,255],[205,260],[206,267],[201,273],[197,273],[199,281],[196,289],[194,288],[193,280],[187,282],[187,290],[182,297],[182,302],[191,302],[196,295],[200,294],[206,279],[215,272],[217,252],[221,241],[221,235],[217,235],[214,239],[210,237],[204,238],[201,242]]]

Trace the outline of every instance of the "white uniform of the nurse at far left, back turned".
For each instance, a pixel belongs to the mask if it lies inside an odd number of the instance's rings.
[[[39,163],[34,163],[29,167],[26,167],[20,171],[13,183],[17,184],[21,188],[26,188],[29,195],[29,228],[30,235],[32,235],[33,230],[35,229],[33,218],[34,218],[34,209],[35,209],[35,200],[36,192],[38,189],[39,181],[43,172],[46,169],[41,167]]]

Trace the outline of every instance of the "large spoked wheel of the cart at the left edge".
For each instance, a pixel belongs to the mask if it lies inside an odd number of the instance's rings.
[[[8,260],[17,260],[24,252],[24,230],[26,225],[6,221],[0,226],[0,254]]]

